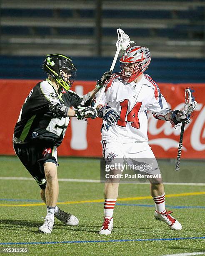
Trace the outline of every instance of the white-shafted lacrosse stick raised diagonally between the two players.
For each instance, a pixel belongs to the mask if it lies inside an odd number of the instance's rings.
[[[117,29],[117,35],[118,35],[118,40],[116,42],[117,50],[116,50],[116,53],[115,53],[115,57],[112,61],[112,65],[110,67],[110,72],[112,72],[114,67],[115,67],[115,63],[117,61],[117,57],[119,55],[120,50],[122,50],[122,51],[125,50],[126,51],[128,49],[128,47],[130,47],[130,43],[135,44],[135,42],[130,41],[130,37],[127,34],[125,34],[125,32],[121,28]],[[95,102],[94,108],[96,108],[97,105],[99,104],[99,101],[102,98],[103,93],[105,92],[105,87],[106,86],[104,84],[104,86],[101,89],[100,95],[97,97],[97,101]]]

